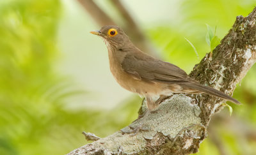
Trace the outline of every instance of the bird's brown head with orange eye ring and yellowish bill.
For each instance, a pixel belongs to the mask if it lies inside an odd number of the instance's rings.
[[[90,33],[102,37],[106,45],[111,48],[123,48],[127,42],[130,42],[129,37],[118,26],[103,26],[100,30]]]

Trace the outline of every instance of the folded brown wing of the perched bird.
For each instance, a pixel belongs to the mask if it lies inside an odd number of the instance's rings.
[[[127,54],[122,69],[138,80],[152,80],[168,84],[195,82],[179,67],[143,53]]]

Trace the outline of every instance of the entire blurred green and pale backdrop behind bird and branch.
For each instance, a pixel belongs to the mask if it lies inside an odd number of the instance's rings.
[[[106,137],[138,117],[143,99],[115,82],[106,45],[90,31],[117,24],[142,50],[189,73],[211,51],[209,29],[223,38],[255,4],[0,1],[0,154],[66,154],[88,143],[82,131]],[[197,154],[256,154],[255,79],[253,66],[234,92],[243,105],[214,116]]]

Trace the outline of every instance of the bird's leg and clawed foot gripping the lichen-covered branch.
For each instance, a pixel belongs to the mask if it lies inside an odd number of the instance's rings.
[[[148,109],[144,112],[143,117],[141,117],[141,122],[138,126],[136,126],[136,128],[133,128],[132,126],[129,126],[132,131],[122,131],[123,133],[134,133],[134,135],[136,135],[136,133],[138,133],[138,131],[148,131],[148,129],[143,129],[143,124],[145,122],[145,120],[147,119],[148,115],[153,112],[155,110],[156,103],[154,101],[152,101],[152,99],[150,97],[146,97],[147,100],[147,107]]]

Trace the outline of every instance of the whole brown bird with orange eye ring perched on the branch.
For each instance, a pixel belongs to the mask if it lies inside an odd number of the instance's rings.
[[[100,36],[106,43],[110,71],[116,82],[124,89],[145,97],[147,111],[142,117],[143,120],[156,110],[161,100],[174,93],[206,93],[241,104],[224,92],[200,84],[178,66],[142,52],[118,26],[103,26],[90,33]],[[155,101],[155,98],[158,99]],[[141,126],[133,129],[131,133],[140,131]]]

